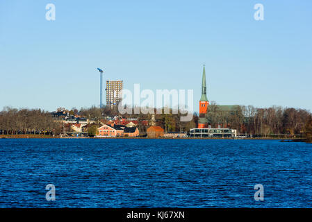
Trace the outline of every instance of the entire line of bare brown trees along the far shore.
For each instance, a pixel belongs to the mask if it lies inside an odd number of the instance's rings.
[[[181,114],[170,108],[170,114],[123,114],[122,117],[138,119],[140,133],[146,132],[149,126],[161,126],[165,132],[188,132],[196,128],[198,114],[195,112],[191,121],[180,121]],[[104,117],[120,116],[117,108],[72,108],[66,110],[69,114],[79,114],[92,120],[101,120]],[[255,108],[252,105],[235,105],[230,110],[223,110],[222,106],[214,101],[208,106],[206,114],[208,125],[212,128],[232,128],[239,134],[258,137],[279,137],[280,135],[304,135],[309,131],[311,112],[304,109],[283,108],[272,106],[270,108]],[[145,123],[143,124],[143,121]],[[148,124],[146,125],[146,122]],[[310,128],[311,130],[311,128]],[[38,134],[58,135],[62,133],[62,126],[56,122],[49,112],[40,109],[15,109],[5,107],[0,112],[0,134]],[[309,131],[310,132],[310,131]],[[306,135],[306,134],[305,134]]]

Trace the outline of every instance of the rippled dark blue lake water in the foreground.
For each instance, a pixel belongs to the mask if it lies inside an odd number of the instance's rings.
[[[311,163],[277,140],[0,139],[0,207],[312,207]]]

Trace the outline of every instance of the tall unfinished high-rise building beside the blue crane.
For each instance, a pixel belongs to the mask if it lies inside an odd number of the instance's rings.
[[[122,101],[122,80],[106,80],[106,107],[111,109]]]

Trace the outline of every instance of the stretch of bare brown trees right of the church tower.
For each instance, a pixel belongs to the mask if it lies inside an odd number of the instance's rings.
[[[212,102],[207,112],[211,126],[225,126],[237,129],[238,133],[258,136],[303,135],[311,112],[304,109],[255,108],[252,105],[236,105],[224,112],[220,106]]]

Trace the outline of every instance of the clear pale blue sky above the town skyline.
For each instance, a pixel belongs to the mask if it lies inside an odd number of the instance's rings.
[[[104,67],[197,111],[204,63],[210,101],[312,110],[312,1],[0,1],[0,109],[99,105]]]

